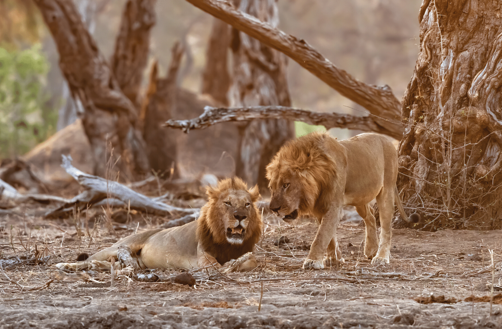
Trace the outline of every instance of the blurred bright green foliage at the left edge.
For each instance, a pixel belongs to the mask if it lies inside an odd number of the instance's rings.
[[[29,151],[55,131],[47,105],[49,64],[40,45],[22,51],[0,47],[0,158]]]

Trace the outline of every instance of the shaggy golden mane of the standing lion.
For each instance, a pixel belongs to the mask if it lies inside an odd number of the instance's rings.
[[[267,166],[270,186],[280,184],[285,172],[296,174],[303,186],[300,214],[322,216],[332,199],[336,163],[320,145],[332,139],[327,133],[310,133],[286,142]],[[336,141],[333,141],[337,143]],[[333,145],[337,147],[338,145]]]

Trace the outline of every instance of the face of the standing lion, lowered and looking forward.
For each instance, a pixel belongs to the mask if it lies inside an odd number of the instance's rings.
[[[304,188],[297,174],[292,171],[282,171],[270,181],[270,210],[283,217],[287,223],[295,220],[303,211]]]

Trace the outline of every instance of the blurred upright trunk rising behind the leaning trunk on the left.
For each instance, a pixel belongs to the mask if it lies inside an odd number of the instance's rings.
[[[156,0],[129,0],[124,7],[110,67],[122,92],[139,108],[138,93],[148,61]]]

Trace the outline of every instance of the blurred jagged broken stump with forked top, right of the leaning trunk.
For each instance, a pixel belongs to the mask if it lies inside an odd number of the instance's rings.
[[[176,77],[183,52],[183,47],[176,43],[166,78],[159,78],[157,63],[153,65],[141,113],[148,159],[152,169],[161,173],[170,172],[176,163],[176,132],[162,128],[161,124],[172,118],[176,106]]]

